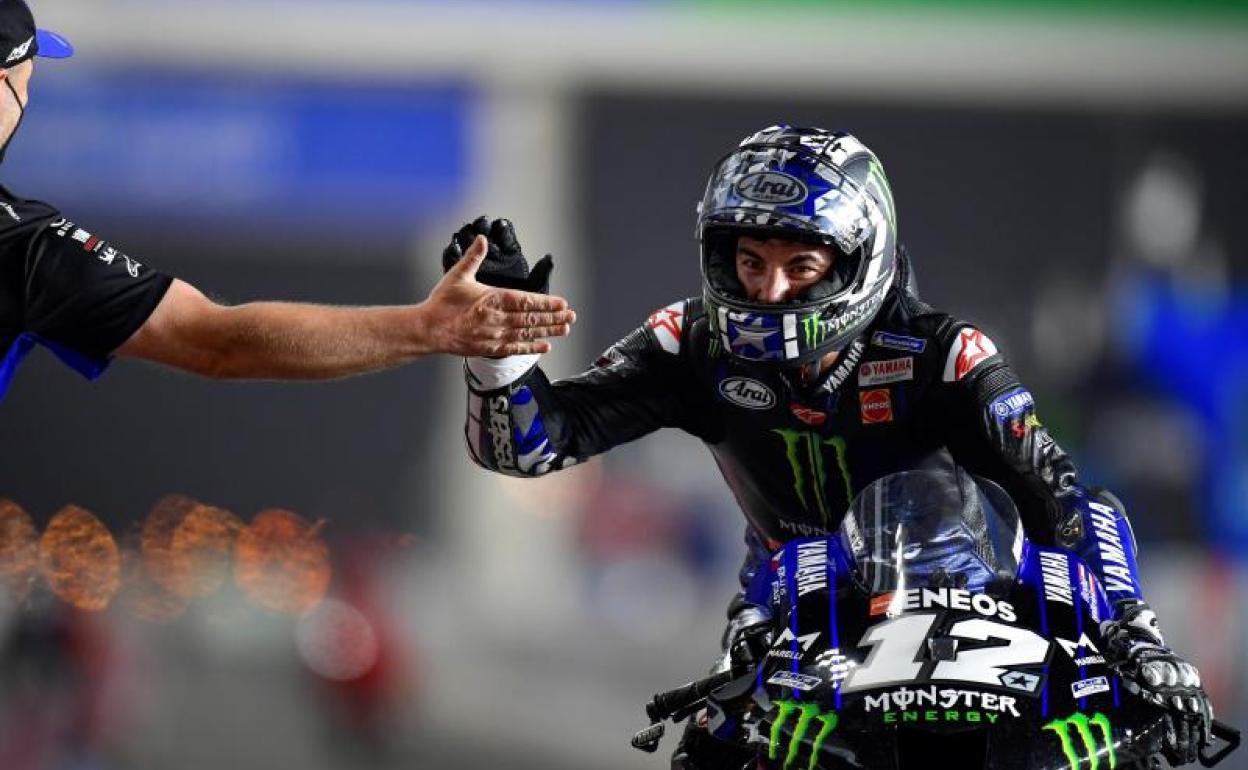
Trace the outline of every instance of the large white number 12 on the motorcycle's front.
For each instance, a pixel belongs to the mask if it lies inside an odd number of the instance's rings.
[[[925,666],[934,681],[976,681],[1001,686],[1008,668],[1040,665],[1048,659],[1050,643],[1040,634],[995,620],[970,618],[948,629],[948,636],[1005,641],[995,646],[958,650],[955,660],[938,660],[932,666],[924,659],[924,643],[931,636],[940,613],[914,613],[886,620],[867,629],[859,646],[870,646],[862,665],[852,669],[841,684],[842,693],[890,684],[915,681]],[[1008,666],[1008,668],[1007,668]]]

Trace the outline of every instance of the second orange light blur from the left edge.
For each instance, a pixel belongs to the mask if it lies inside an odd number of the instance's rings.
[[[90,510],[61,508],[39,540],[40,569],[51,592],[82,610],[109,607],[121,585],[117,542]]]

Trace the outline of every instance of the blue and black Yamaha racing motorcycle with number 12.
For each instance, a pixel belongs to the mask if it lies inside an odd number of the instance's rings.
[[[1031,543],[992,482],[881,478],[836,533],[776,550],[748,597],[770,608],[770,646],[655,695],[635,748],[698,715],[753,756],[730,770],[1162,766],[1169,719],[1103,656],[1096,575]],[[1207,768],[1239,745],[1212,731]]]

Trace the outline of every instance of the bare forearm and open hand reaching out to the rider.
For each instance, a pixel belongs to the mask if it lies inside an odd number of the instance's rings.
[[[175,280],[116,354],[220,378],[321,379],[398,366],[428,353],[544,353],[575,313],[560,297],[478,283],[485,238],[473,242],[419,305],[222,306]]]

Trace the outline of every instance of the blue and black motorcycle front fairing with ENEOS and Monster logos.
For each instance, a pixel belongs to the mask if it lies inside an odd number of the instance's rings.
[[[885,497],[904,513],[901,492]],[[909,768],[922,745],[966,766],[1058,770],[1158,750],[1164,716],[1121,688],[1099,654],[1109,605],[1092,570],[1071,552],[1027,543],[1008,498],[981,510],[995,522],[971,528],[980,537],[970,542],[987,544],[973,559],[962,537],[945,537],[930,558],[907,559],[919,554],[892,542],[866,559],[884,540],[864,537],[877,533],[862,515],[846,517],[836,537],[776,553],[776,643],[755,696],[768,713],[756,731],[769,741],[765,766]],[[871,570],[886,565],[897,578],[871,593]],[[957,572],[967,565],[980,577]],[[857,676],[881,664],[900,674]]]

